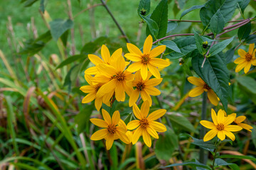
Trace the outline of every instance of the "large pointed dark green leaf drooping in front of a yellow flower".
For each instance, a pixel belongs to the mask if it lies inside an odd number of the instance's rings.
[[[223,103],[225,111],[227,111],[230,77],[223,53],[206,57],[206,62],[202,68],[203,60],[204,58],[198,52],[197,54],[195,52],[191,60],[193,70],[213,89],[221,103]]]

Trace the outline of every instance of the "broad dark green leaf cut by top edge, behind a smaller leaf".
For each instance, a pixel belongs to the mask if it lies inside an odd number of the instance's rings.
[[[215,13],[220,11],[222,14],[225,23],[230,21],[235,12],[237,5],[237,0],[209,0],[206,2],[205,6],[200,10],[200,18],[203,23],[203,26],[208,27],[210,20],[213,18]]]

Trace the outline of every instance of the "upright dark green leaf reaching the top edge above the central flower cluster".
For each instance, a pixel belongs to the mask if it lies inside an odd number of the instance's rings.
[[[150,18],[154,20],[159,28],[159,32],[156,36],[157,39],[163,38],[166,35],[167,23],[168,23],[168,4],[167,0],[161,0],[154,9]]]

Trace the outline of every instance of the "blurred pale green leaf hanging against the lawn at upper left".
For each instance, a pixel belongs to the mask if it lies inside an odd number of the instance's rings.
[[[58,40],[66,30],[73,28],[73,21],[70,19],[55,19],[54,21],[50,21],[50,33],[53,36],[54,40]]]

